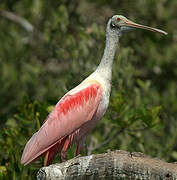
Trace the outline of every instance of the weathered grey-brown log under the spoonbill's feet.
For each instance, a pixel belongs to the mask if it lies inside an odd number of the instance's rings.
[[[38,180],[144,179],[175,180],[177,164],[150,158],[142,153],[114,151],[77,157],[61,164],[43,167]]]

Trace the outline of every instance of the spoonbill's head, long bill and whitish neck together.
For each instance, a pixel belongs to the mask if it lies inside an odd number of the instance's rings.
[[[99,74],[101,74],[104,79],[111,81],[112,63],[117,49],[119,37],[130,30],[136,29],[143,29],[167,35],[165,31],[162,31],[160,29],[134,23],[133,21],[130,21],[129,19],[121,15],[114,15],[109,19],[107,23],[106,46],[104,49],[102,60],[96,70],[96,73],[99,72]]]

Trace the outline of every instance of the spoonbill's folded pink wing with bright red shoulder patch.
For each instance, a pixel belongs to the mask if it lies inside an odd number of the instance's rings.
[[[100,103],[102,88],[96,82],[83,87],[76,87],[57,103],[39,131],[26,144],[21,158],[22,164],[30,163],[60,139],[91,120]]]

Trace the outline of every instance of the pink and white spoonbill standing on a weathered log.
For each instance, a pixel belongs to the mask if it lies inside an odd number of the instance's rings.
[[[60,153],[66,161],[67,150],[76,143],[80,155],[87,136],[104,116],[111,92],[112,66],[120,37],[135,29],[167,35],[167,32],[137,24],[122,15],[112,16],[106,26],[105,49],[96,70],[67,92],[45,119],[41,128],[27,142],[21,163],[27,165],[44,156],[44,166]]]

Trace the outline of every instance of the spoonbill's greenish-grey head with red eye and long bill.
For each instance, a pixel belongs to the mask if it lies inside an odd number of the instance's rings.
[[[135,29],[144,29],[144,30],[149,30],[149,31],[158,32],[158,33],[167,35],[167,32],[165,31],[134,23],[133,21],[130,21],[129,19],[121,15],[114,15],[109,20],[107,28],[111,34],[117,34],[119,36],[121,36],[122,33],[124,32],[135,30]]]

